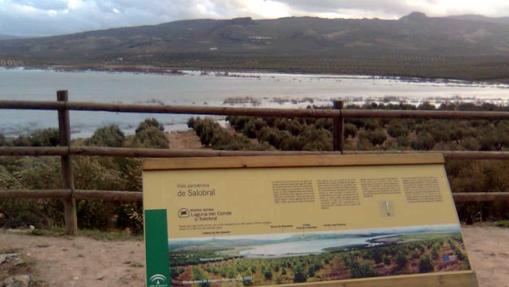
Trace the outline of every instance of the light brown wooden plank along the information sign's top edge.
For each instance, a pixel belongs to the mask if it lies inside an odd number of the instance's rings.
[[[313,167],[313,166],[366,166],[443,164],[442,154],[397,155],[302,155],[302,156],[240,156],[207,158],[172,158],[145,160],[143,169],[223,169],[259,167]]]

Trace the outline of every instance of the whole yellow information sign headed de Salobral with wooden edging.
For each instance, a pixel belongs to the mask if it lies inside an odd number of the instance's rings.
[[[443,163],[148,160],[147,286],[477,286]]]

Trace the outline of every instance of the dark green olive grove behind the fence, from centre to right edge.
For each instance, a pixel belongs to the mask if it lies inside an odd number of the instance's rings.
[[[365,103],[346,108],[509,111],[509,106],[490,103],[443,103],[439,106],[426,102],[418,106],[405,103]],[[242,135],[251,140],[245,139],[244,142],[249,145],[238,144],[235,149],[249,150],[256,143],[257,147],[264,150],[332,150],[332,119],[228,116],[226,120],[236,131],[235,136]],[[225,128],[207,118],[193,118],[189,123],[189,127],[200,138],[204,136],[204,131],[210,133],[205,138],[214,137],[215,130],[218,130],[218,134],[228,134]],[[196,123],[200,123],[200,128],[195,128]],[[346,150],[505,151],[509,150],[509,121],[347,118],[343,136]],[[202,143],[214,149],[228,149],[213,141]],[[448,161],[446,169],[453,192],[509,191],[507,161]],[[467,222],[474,220],[474,217],[483,220],[509,217],[509,208],[500,202],[461,203],[457,207],[460,218]]]

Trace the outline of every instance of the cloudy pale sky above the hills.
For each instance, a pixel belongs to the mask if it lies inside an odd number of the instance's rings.
[[[190,18],[509,16],[509,0],[0,0],[0,34],[42,36]]]

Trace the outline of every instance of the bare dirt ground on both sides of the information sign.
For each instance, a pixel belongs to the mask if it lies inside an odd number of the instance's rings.
[[[509,229],[463,228],[480,287],[509,287]],[[142,241],[29,236],[0,231],[0,251],[17,249],[48,286],[143,286]],[[1,268],[1,265],[0,265]]]

